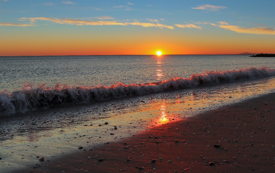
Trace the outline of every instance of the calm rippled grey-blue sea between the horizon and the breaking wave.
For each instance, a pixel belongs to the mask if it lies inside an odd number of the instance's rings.
[[[274,57],[248,55],[114,55],[0,57],[0,91],[21,90],[23,83],[96,86],[149,83],[195,73],[266,66]]]

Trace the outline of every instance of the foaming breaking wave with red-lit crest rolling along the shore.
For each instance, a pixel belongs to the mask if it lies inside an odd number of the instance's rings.
[[[173,77],[167,81],[154,83],[124,85],[119,82],[110,87],[104,85],[70,87],[69,85],[59,85],[57,83],[55,87],[42,84],[34,88],[32,84],[23,84],[22,90],[0,92],[0,114],[24,113],[48,106],[98,102],[271,76],[275,76],[275,69],[251,67],[231,71],[205,71],[202,74],[193,74],[190,78]]]

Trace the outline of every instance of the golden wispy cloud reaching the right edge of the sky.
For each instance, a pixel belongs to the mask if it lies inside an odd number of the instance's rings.
[[[269,34],[269,35],[275,35],[275,28],[245,28],[237,25],[215,25],[220,28],[223,28],[225,30],[231,30],[235,31],[237,33],[246,33],[246,34]]]

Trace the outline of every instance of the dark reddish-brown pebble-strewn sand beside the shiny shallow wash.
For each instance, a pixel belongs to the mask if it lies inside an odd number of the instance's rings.
[[[38,158],[15,172],[274,172],[274,98],[267,94],[171,119],[118,142],[76,146],[73,154]]]

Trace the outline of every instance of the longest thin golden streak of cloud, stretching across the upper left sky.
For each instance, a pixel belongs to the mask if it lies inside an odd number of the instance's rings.
[[[50,21],[55,22],[58,24],[69,24],[69,25],[136,25],[136,26],[142,26],[142,27],[158,27],[158,28],[168,28],[168,29],[174,29],[173,26],[167,26],[163,24],[152,24],[152,23],[140,23],[140,22],[117,22],[117,21],[98,21],[98,20],[80,20],[80,19],[70,19],[70,18],[21,18],[23,20],[30,20],[31,22],[37,22],[40,21]]]

